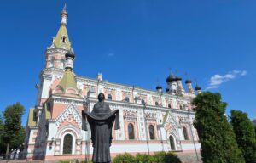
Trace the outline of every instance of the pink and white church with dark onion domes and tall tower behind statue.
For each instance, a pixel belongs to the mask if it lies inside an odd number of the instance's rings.
[[[36,105],[29,110],[26,123],[24,157],[49,161],[91,158],[90,129],[82,130],[82,110],[91,111],[99,93],[104,93],[111,110],[119,110],[120,129],[112,133],[112,157],[125,152],[199,153],[191,101],[201,87],[194,89],[186,79],[184,88],[182,78],[172,74],[166,78],[166,90],[157,86],[154,91],[108,82],[100,73],[96,78],[76,75],[67,17],[64,7],[59,31],[44,53]]]

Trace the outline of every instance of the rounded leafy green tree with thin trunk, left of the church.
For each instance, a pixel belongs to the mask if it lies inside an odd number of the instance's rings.
[[[7,146],[7,156],[9,155],[9,148],[16,149],[24,141],[25,131],[23,126],[21,126],[21,117],[23,114],[24,107],[20,103],[9,105],[3,112],[3,138]]]

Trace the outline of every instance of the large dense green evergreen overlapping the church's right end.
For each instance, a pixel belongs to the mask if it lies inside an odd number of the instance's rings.
[[[244,163],[232,126],[224,115],[226,103],[219,93],[200,93],[194,98],[195,122],[204,163]]]

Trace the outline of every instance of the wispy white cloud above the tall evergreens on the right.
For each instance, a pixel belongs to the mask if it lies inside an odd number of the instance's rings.
[[[246,75],[247,75],[246,70],[233,70],[224,76],[216,74],[210,78],[210,81],[208,82],[208,87],[206,89],[218,88],[223,82],[228,82],[231,79],[235,79],[237,76],[246,76]]]

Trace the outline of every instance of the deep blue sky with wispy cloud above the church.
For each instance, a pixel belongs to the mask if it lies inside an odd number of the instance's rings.
[[[13,1],[0,5],[0,110],[36,101],[44,51],[67,30],[79,76],[166,89],[169,68],[256,118],[256,1]],[[26,112],[27,114],[27,112]],[[23,124],[26,124],[26,114]]]

